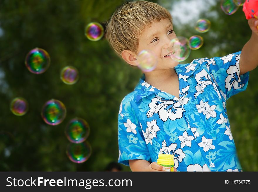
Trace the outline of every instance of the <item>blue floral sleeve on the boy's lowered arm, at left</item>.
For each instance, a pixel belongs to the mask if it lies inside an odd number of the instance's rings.
[[[128,116],[118,114],[118,162],[129,166],[129,160],[143,159],[151,161],[142,129]]]

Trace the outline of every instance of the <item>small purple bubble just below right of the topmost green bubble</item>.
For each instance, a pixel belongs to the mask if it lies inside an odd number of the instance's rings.
[[[67,66],[62,69],[61,80],[68,85],[75,84],[79,79],[79,72],[75,67]]]

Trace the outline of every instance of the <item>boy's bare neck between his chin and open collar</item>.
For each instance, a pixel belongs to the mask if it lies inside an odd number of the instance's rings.
[[[169,81],[171,82],[175,79],[178,79],[178,77],[174,68],[145,72],[145,82],[154,87],[156,84],[162,84]]]

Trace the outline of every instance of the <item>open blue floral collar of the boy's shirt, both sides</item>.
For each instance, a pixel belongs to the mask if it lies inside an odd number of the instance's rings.
[[[198,68],[200,67],[200,63],[193,62],[193,63],[186,63],[186,64],[179,64],[174,67],[179,79],[186,80],[189,78]],[[186,80],[187,81],[187,80]],[[135,101],[138,102],[142,98],[145,98],[151,94],[159,94],[161,90],[153,87],[152,85],[145,82],[145,74],[142,74],[142,77],[139,80],[139,83],[135,86],[134,91],[135,94]]]

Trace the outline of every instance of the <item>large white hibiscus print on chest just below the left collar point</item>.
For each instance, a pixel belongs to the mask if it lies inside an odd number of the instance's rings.
[[[147,117],[152,117],[153,112],[159,114],[159,118],[163,121],[167,119],[175,120],[183,117],[183,109],[181,103],[174,102],[172,99],[161,98],[156,96],[149,103],[150,110],[147,112]]]

